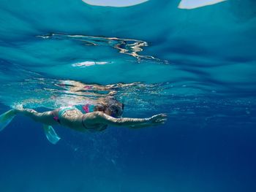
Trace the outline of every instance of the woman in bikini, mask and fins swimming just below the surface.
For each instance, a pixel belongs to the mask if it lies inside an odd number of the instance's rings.
[[[48,112],[37,112],[31,109],[18,107],[0,115],[0,131],[3,130],[15,117],[15,115],[26,115],[33,120],[42,123],[45,135],[48,140],[56,144],[60,137],[56,134],[54,125],[61,125],[72,128],[76,131],[103,131],[108,126],[126,126],[128,128],[142,128],[158,126],[165,123],[167,115],[159,114],[151,118],[121,118],[124,104],[116,99],[102,100],[89,112],[89,105],[83,106],[86,114],[83,114],[76,107],[61,107]]]

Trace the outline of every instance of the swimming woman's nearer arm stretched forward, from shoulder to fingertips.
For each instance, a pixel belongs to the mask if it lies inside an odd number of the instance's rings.
[[[141,128],[158,126],[167,120],[166,114],[154,115],[151,118],[113,118],[103,112],[94,112],[95,123],[107,124],[110,126],[127,126],[129,128]]]

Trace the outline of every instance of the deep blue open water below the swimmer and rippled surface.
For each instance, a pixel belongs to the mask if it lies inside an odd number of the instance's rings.
[[[58,127],[51,145],[42,125],[18,116],[0,134],[1,191],[255,191],[250,124],[170,115],[165,126],[138,130]]]

